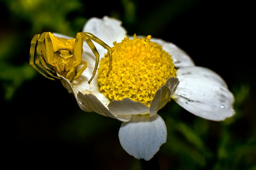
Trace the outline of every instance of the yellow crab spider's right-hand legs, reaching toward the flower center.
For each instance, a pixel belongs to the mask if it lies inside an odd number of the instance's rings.
[[[99,54],[98,50],[96,49],[95,45],[93,44],[92,40],[97,42],[103,48],[105,48],[105,49],[107,49],[111,52],[111,48],[105,42],[103,42],[99,38],[95,37],[93,34],[91,34],[91,33],[77,33],[76,34],[76,41],[75,41],[75,46],[74,46],[74,55],[75,55],[76,60],[81,61],[81,59],[82,59],[84,41],[88,44],[88,46],[92,50],[92,53],[96,57],[95,66],[94,66],[94,69],[93,69],[93,72],[92,72],[92,78],[88,81],[88,84],[91,83],[92,79],[96,75],[96,71],[97,71],[97,68],[98,68],[98,65],[99,65],[99,60],[100,60],[100,54]],[[111,70],[111,65],[112,65],[112,55],[111,55],[111,53],[110,53],[110,61],[109,62],[110,62],[110,64],[109,64],[109,69],[108,69],[107,76],[109,75],[109,72]],[[87,63],[86,63],[86,65],[87,65]],[[81,75],[82,72],[85,70],[85,68],[82,67],[82,69],[80,69],[78,71],[77,75],[78,74]]]

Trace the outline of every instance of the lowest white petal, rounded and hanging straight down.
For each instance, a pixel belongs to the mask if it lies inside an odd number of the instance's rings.
[[[123,149],[136,159],[150,160],[166,142],[167,129],[158,114],[132,115],[119,129],[119,141]]]

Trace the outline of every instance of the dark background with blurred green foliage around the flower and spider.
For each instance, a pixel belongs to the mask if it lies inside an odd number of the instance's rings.
[[[238,39],[244,37],[239,32],[246,32],[239,29],[236,36],[228,32],[239,24],[250,32],[247,22],[239,17],[241,13],[237,13],[243,4],[200,0],[100,3],[0,1],[7,14],[1,18],[0,32],[1,103],[6,116],[2,120],[6,120],[4,141],[8,150],[5,155],[12,158],[7,160],[26,165],[24,160],[29,159],[56,165],[60,159],[67,159],[76,160],[77,165],[94,165],[95,169],[256,169],[255,81],[252,79],[255,73],[250,61],[234,59],[236,55],[251,55],[245,54],[244,44],[234,49],[235,42],[245,42]],[[74,37],[88,18],[104,15],[122,20],[130,35],[151,34],[176,43],[197,65],[219,73],[234,93],[236,115],[223,122],[208,121],[171,101],[159,112],[166,122],[167,143],[148,162],[128,155],[119,144],[121,122],[82,112],[73,95],[59,81],[44,78],[28,63],[30,41],[35,34],[51,31]],[[212,30],[203,31],[209,28]],[[220,49],[226,60],[214,59],[220,55]],[[24,153],[30,156],[23,157]]]

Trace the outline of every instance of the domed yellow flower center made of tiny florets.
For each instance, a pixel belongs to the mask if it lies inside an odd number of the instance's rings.
[[[101,59],[97,80],[100,92],[107,98],[130,98],[150,106],[156,91],[168,78],[176,76],[172,56],[150,39],[150,35],[138,38],[134,34],[132,40],[125,37],[120,43],[114,42],[112,70],[108,77],[109,52]]]

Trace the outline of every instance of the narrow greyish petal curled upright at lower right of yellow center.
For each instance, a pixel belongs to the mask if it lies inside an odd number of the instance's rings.
[[[179,85],[179,79],[176,77],[168,78],[164,85],[156,91],[156,94],[150,104],[150,116],[157,113],[171,99],[172,94],[176,91]]]

